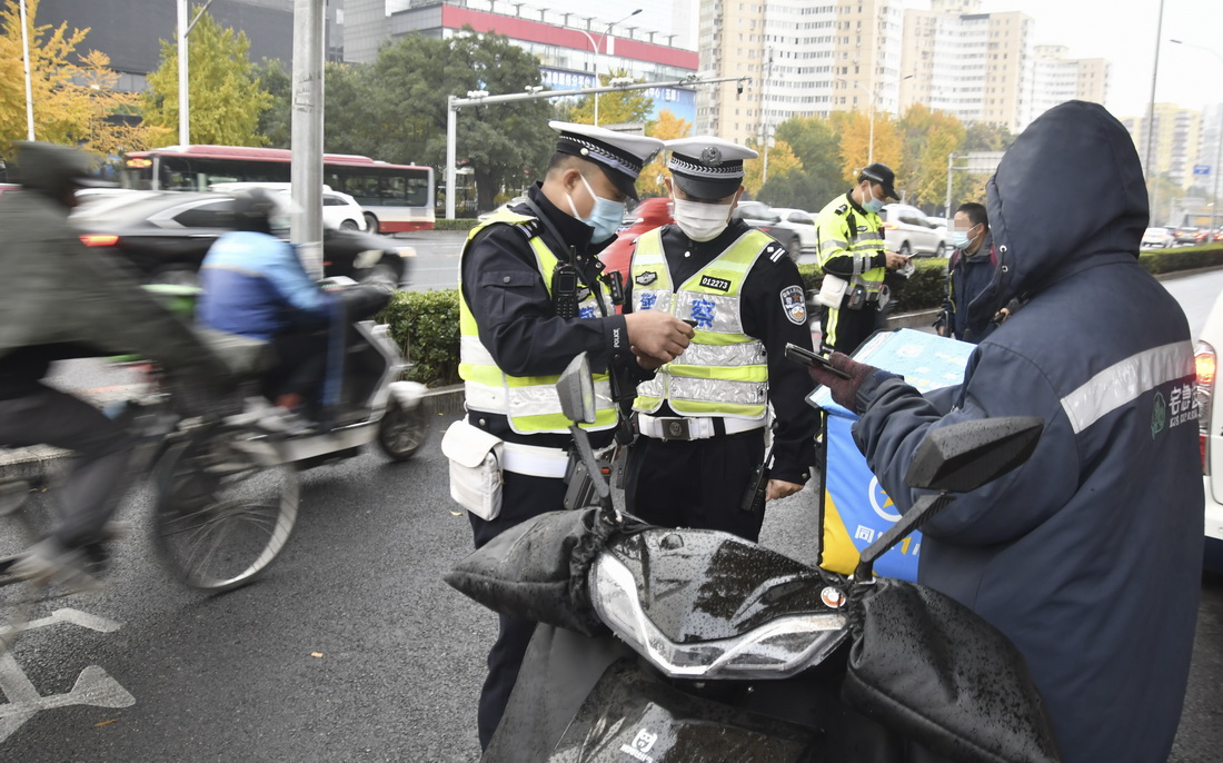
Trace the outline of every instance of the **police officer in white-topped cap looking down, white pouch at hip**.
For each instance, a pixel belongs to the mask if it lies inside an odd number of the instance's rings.
[[[668,362],[692,329],[662,313],[616,315],[596,257],[614,238],[642,165],[662,141],[588,125],[550,122],[560,132],[542,183],[527,201],[475,227],[461,260],[460,375],[468,422],[504,440],[501,509],[468,514],[476,547],[545,511],[563,509],[569,422],[553,385],[586,352],[599,389],[591,427],[610,440],[616,411],[609,368]],[[501,617],[488,654],[478,726],[487,747],[500,723],[534,622]]]

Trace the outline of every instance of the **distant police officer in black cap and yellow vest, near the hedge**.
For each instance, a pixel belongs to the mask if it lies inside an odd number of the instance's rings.
[[[851,355],[866,341],[888,301],[884,275],[909,263],[907,257],[887,251],[879,220],[884,199],[899,198],[894,183],[892,168],[870,164],[857,176],[857,185],[828,202],[816,218],[819,267],[824,271],[817,297],[823,304],[822,352]]]

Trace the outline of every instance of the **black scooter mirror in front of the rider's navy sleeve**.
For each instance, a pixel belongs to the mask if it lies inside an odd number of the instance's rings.
[[[1036,450],[1044,421],[982,418],[931,432],[905,474],[912,488],[969,493],[1020,466]]]

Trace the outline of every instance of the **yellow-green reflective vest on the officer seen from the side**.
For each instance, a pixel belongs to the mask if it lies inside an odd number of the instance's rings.
[[[531,251],[536,256],[536,267],[543,276],[543,282],[552,295],[552,273],[559,264],[556,256],[552,253],[532,226],[536,218],[512,212],[500,212],[484,223],[471,229],[467,242],[464,246],[464,254],[472,240],[479,231],[489,225],[510,224],[523,229],[530,237]],[[461,278],[461,275],[460,275]],[[578,285],[581,293],[586,296],[578,302],[581,314],[592,311],[598,314],[600,307],[594,296],[594,289],[603,295],[603,304],[610,304],[610,296],[602,282],[587,289]],[[509,418],[510,428],[519,434],[543,434],[569,432],[571,423],[560,411],[560,399],[556,396],[556,380],[559,375],[543,377],[512,377],[500,368],[493,359],[492,353],[479,341],[479,329],[476,325],[476,317],[467,304],[467,298],[462,296],[462,287],[459,289],[459,377],[464,380],[467,397],[467,408],[473,411],[487,411],[500,413]],[[612,386],[608,374],[594,374],[596,417],[593,424],[581,424],[583,429],[609,429],[616,423],[616,408],[612,400]]]

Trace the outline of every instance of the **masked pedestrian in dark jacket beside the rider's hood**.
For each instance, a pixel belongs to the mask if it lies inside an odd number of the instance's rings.
[[[951,245],[955,251],[947,264],[943,312],[934,328],[939,336],[977,344],[998,325],[993,315],[969,320],[969,304],[989,286],[998,263],[985,205],[960,204],[951,219]]]

